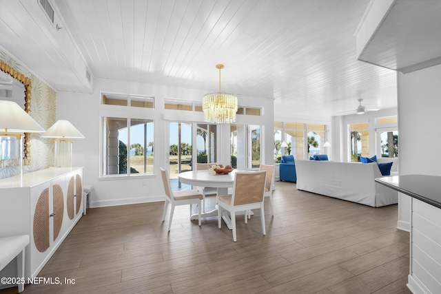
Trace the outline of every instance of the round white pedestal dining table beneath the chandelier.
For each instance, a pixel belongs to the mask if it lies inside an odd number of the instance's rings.
[[[187,185],[198,186],[198,187],[214,187],[218,189],[216,197],[228,194],[228,188],[234,186],[234,175],[236,172],[253,172],[252,169],[233,169],[229,174],[212,175],[209,170],[201,171],[184,171],[178,174],[178,178],[181,182]],[[217,205],[216,205],[217,207]],[[250,213],[253,214],[252,211]],[[212,211],[207,211],[202,213],[203,218],[208,218],[212,216],[218,216],[218,210],[213,209]],[[231,229],[231,220],[228,216],[222,217],[227,227]],[[197,220],[198,215],[194,214],[191,216],[192,220]]]

